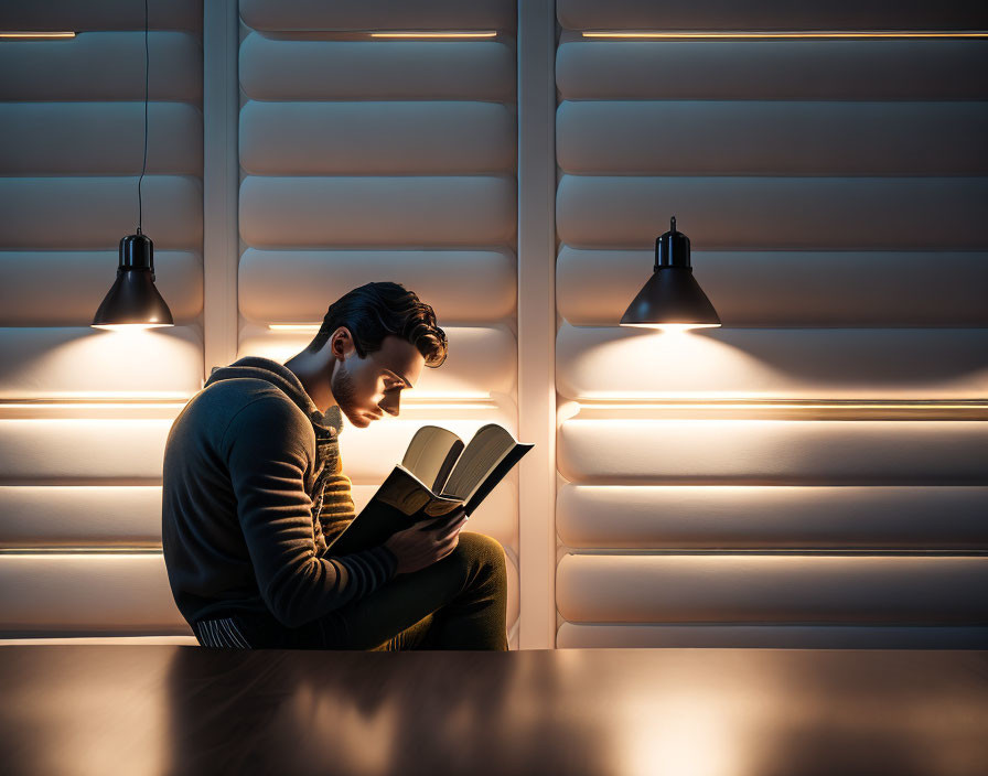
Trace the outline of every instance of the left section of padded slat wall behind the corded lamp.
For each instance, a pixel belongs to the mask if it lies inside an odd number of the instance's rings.
[[[77,34],[0,41],[3,637],[190,634],[153,551],[171,425],[155,402],[203,378],[202,11],[149,8],[142,226],[176,325],[130,333],[89,322],[138,225],[143,7],[4,8],[4,30]]]

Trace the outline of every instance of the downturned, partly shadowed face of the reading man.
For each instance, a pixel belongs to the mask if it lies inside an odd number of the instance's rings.
[[[336,364],[330,390],[346,419],[365,429],[385,412],[398,414],[401,391],[418,382],[425,365],[425,357],[410,342],[386,336],[380,349],[366,358],[351,348]]]

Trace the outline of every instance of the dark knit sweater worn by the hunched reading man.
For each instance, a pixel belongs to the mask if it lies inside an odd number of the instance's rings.
[[[299,627],[395,576],[384,546],[333,556],[354,517],[337,407],[323,414],[284,365],[213,370],[164,451],[161,539],[182,616],[248,612]]]

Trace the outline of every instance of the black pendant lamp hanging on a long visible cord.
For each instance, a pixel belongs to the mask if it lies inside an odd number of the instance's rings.
[[[154,244],[141,231],[141,182],[148,169],[148,0],[144,0],[144,161],[137,181],[137,234],[120,240],[117,279],[96,311],[96,328],[155,328],[173,326],[172,313],[154,287]]]

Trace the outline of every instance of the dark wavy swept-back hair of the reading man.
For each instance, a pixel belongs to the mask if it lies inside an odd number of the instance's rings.
[[[389,334],[416,346],[426,366],[438,367],[445,360],[447,338],[432,308],[400,283],[366,283],[348,291],[330,305],[319,334],[305,348],[316,353],[340,326],[350,330],[357,355],[380,349]]]

